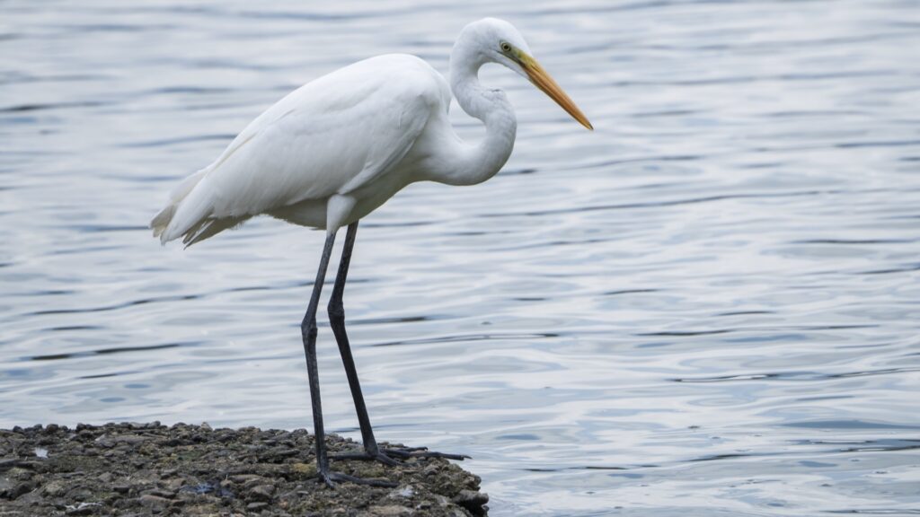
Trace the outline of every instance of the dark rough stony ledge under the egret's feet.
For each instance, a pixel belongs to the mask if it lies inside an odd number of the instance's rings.
[[[316,480],[304,430],[212,429],[207,424],[78,424],[0,430],[0,516],[485,515],[479,478],[440,458],[404,465],[333,460],[355,477],[396,488]],[[361,444],[328,437],[330,453]]]

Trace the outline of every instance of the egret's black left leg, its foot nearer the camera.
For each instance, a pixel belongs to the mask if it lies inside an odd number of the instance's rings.
[[[316,282],[313,284],[313,294],[310,304],[307,305],[304,321],[300,324],[301,336],[304,339],[304,352],[306,354],[306,373],[310,380],[310,401],[313,404],[313,429],[316,439],[316,470],[322,481],[329,487],[334,481],[351,481],[366,485],[380,487],[395,487],[395,483],[374,481],[339,474],[329,471],[329,459],[326,453],[326,432],[323,430],[323,408],[319,397],[319,374],[316,369],[316,307],[319,304],[319,294],[323,291],[323,281],[326,280],[326,270],[329,257],[332,255],[332,246],[336,242],[335,232],[326,236],[326,246],[323,247],[323,256],[319,260],[319,270],[316,271]]]

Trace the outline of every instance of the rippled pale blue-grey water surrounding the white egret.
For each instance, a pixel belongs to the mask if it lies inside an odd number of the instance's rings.
[[[347,311],[384,440],[493,515],[920,513],[920,5],[7,1],[0,426],[311,424],[323,236],[145,224],[271,102],[506,17],[596,128],[519,118],[483,185],[362,224]],[[458,109],[470,138],[481,134]],[[359,437],[320,328],[327,427]]]

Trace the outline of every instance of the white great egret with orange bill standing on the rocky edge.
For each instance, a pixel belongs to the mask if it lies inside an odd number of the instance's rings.
[[[348,225],[339,273],[328,304],[361,423],[364,453],[350,458],[388,465],[393,457],[455,454],[383,450],[358,383],[345,332],[342,292],[358,221],[409,183],[431,180],[475,185],[494,176],[508,160],[517,121],[504,92],[481,86],[478,70],[500,63],[529,79],[576,121],[591,122],[531,56],[512,24],[484,18],[467,25],[451,52],[451,83],[420,58],[382,55],[322,76],[282,98],[234,139],[210,166],[186,178],[167,207],[151,222],[154,236],[182,237],[190,246],[254,215],[267,213],[289,223],[326,230],[316,283],[301,324],[313,403],[316,465],[320,479],[385,484],[329,470],[316,373],[316,308],[336,234]],[[486,137],[466,144],[448,119],[451,92],[460,107],[486,126]]]

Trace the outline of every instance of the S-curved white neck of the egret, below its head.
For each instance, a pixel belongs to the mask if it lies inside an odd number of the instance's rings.
[[[450,185],[475,185],[499,172],[514,148],[517,120],[512,105],[501,90],[479,84],[479,67],[487,63],[473,41],[464,38],[454,44],[451,52],[451,90],[466,114],[482,121],[486,137],[478,144],[460,142],[449,171],[438,181]]]

